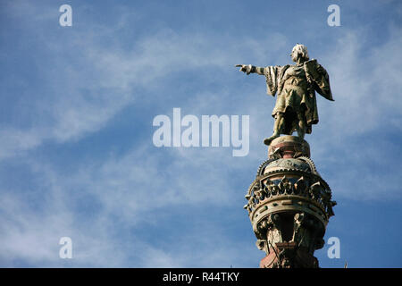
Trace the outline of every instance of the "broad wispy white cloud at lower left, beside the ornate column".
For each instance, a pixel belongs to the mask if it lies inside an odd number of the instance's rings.
[[[184,231],[180,234],[183,242],[175,242],[169,248],[163,247],[163,236],[155,239],[161,240],[161,245],[139,239],[138,231],[145,225],[156,226],[164,212],[183,207],[224,207],[236,200],[237,189],[230,181],[222,180],[222,176],[228,180],[227,166],[219,160],[214,164],[206,158],[195,160],[194,152],[191,156],[179,150],[172,152],[177,158],[166,164],[161,157],[152,155],[148,147],[139,147],[121,158],[111,156],[105,162],[88,164],[71,175],[54,172],[50,165],[30,162],[32,172],[43,182],[41,198],[36,199],[46,203],[38,209],[35,203],[32,206],[21,200],[19,192],[2,190],[3,265],[13,266],[21,259],[28,265],[69,266],[58,257],[57,243],[63,236],[70,236],[73,241],[74,266],[235,264],[241,250],[234,250],[235,241],[219,230],[219,221],[189,215],[188,219],[199,225],[197,233],[202,234]],[[210,156],[221,153],[213,152]],[[147,159],[144,154],[149,154]],[[95,209],[77,213],[83,202],[95,204]],[[119,231],[121,239],[115,238],[116,223],[124,225]],[[165,239],[173,238],[166,234]],[[206,257],[205,251],[210,253]],[[137,257],[134,265],[130,265],[132,256]]]

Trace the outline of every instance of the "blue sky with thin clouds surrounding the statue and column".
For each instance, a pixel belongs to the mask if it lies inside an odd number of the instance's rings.
[[[59,25],[71,4],[72,26]],[[327,8],[340,7],[339,27]],[[401,267],[398,1],[2,1],[0,266],[256,267],[244,195],[275,98],[236,63],[329,71],[306,135],[338,202],[322,267]],[[155,147],[158,114],[247,114],[248,156]],[[59,257],[71,237],[73,258]]]

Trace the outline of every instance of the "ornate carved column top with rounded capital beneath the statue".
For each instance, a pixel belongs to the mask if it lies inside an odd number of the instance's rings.
[[[324,245],[336,202],[306,140],[289,135],[272,140],[246,199],[256,246],[266,254],[260,267],[318,267],[314,251]]]

